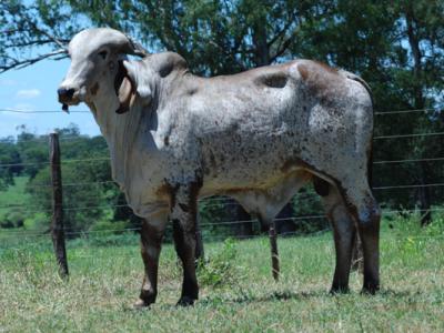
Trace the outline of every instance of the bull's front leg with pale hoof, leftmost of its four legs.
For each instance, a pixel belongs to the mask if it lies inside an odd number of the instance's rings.
[[[142,221],[140,231],[141,254],[144,264],[142,290],[135,307],[149,306],[158,295],[158,268],[168,211]]]

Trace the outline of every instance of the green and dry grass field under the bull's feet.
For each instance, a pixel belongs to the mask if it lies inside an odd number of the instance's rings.
[[[135,235],[71,241],[69,282],[56,274],[48,240],[0,245],[0,332],[443,332],[440,225],[384,228],[375,296],[360,294],[357,273],[350,294],[327,293],[334,251],[325,233],[279,240],[279,283],[271,278],[268,239],[205,243],[210,262],[199,272],[200,301],[176,307],[181,271],[165,244],[158,303],[142,311],[131,306],[142,279]]]

